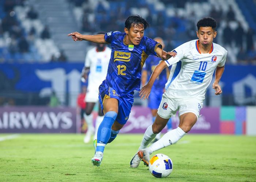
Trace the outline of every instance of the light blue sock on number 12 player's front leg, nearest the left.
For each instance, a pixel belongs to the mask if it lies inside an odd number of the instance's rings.
[[[106,144],[113,141],[114,138],[116,137],[117,133],[119,132],[119,131],[117,131],[116,134],[113,133],[113,135],[112,135],[113,130],[111,129],[111,127],[114,124],[116,117],[117,117],[116,112],[109,111],[105,114],[103,121],[99,125],[99,129],[98,129],[98,133],[97,133],[97,148],[96,148],[97,152],[98,151],[103,152]],[[113,132],[116,132],[116,131],[113,131]],[[111,135],[113,137],[113,140],[108,142],[110,140]]]

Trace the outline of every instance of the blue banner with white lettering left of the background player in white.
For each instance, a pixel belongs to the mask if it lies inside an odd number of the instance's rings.
[[[41,97],[55,91],[61,103],[65,103],[68,93],[69,105],[76,106],[82,69],[82,63],[1,64],[0,90],[39,92]]]

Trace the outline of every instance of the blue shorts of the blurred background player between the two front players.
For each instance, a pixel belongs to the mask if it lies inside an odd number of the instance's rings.
[[[150,109],[158,109],[163,95],[163,89],[152,88],[150,95],[148,97],[148,107]]]

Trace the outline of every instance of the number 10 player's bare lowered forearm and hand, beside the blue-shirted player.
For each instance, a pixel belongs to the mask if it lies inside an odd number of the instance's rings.
[[[148,99],[148,96],[151,92],[151,88],[155,82],[155,79],[157,79],[157,77],[160,75],[160,73],[163,71],[163,69],[165,69],[167,67],[165,61],[161,61],[154,69],[148,83],[142,87],[142,89],[140,90],[140,99],[145,100],[146,98]]]

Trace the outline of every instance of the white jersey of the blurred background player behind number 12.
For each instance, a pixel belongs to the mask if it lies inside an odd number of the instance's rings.
[[[102,52],[98,52],[96,47],[87,52],[84,66],[90,67],[88,90],[98,90],[99,85],[106,79],[110,56],[111,49],[107,46]]]

